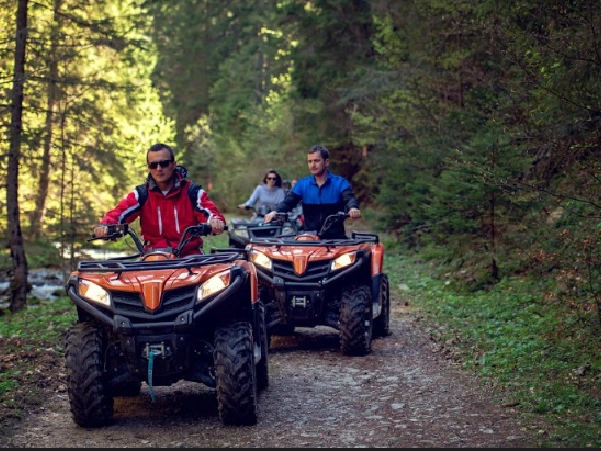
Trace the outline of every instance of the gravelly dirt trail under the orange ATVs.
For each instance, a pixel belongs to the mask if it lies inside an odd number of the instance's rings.
[[[259,423],[223,427],[214,392],[200,384],[143,385],[137,398],[115,399],[115,424],[83,429],[71,420],[64,387],[19,422],[4,447],[305,448],[536,447],[535,428],[520,424],[477,379],[441,358],[412,315],[394,302],[392,335],[365,357],[343,357],[337,332],[298,329],[270,353],[270,386]]]

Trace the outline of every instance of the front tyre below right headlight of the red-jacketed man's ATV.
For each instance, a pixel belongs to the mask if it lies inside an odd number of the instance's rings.
[[[220,327],[213,352],[217,378],[217,407],[224,425],[257,423],[257,372],[250,323]]]

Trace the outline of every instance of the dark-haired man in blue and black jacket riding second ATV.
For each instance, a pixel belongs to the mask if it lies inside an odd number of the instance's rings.
[[[300,202],[303,203],[305,230],[319,231],[329,215],[339,211],[348,212],[352,219],[361,217],[359,202],[347,179],[334,175],[328,169],[330,152],[324,146],[315,145],[307,151],[307,165],[311,175],[300,179],[286,194],[283,202],[265,216],[271,222],[277,213],[287,213]],[[340,222],[330,228],[323,238],[344,238],[344,224]]]

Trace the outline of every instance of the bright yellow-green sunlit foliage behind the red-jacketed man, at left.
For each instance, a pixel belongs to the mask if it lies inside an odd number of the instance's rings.
[[[150,84],[155,55],[139,5],[67,0],[55,13],[55,3],[29,10],[19,202],[25,235],[68,241],[139,183],[145,149],[173,132]],[[14,24],[1,29],[3,52]],[[11,70],[1,64],[0,77]]]

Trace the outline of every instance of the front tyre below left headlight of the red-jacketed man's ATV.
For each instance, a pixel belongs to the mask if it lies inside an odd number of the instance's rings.
[[[113,395],[104,373],[106,342],[94,323],[79,323],[67,332],[67,392],[75,423],[102,427],[113,421]]]

